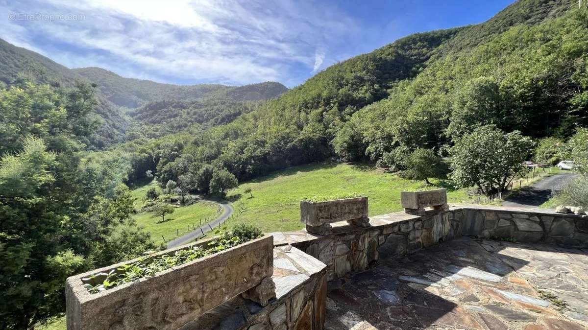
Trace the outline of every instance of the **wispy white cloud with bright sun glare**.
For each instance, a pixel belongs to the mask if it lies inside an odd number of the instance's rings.
[[[123,76],[230,85],[278,80],[322,68],[330,46],[357,23],[306,0],[0,0],[0,12],[83,15],[83,20],[0,19],[0,38],[69,67]],[[320,46],[316,46],[320,45]]]

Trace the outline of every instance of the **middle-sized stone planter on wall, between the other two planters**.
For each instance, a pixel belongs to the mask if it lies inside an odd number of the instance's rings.
[[[309,233],[328,235],[330,224],[347,221],[360,227],[369,226],[368,197],[330,201],[300,201],[300,221]]]

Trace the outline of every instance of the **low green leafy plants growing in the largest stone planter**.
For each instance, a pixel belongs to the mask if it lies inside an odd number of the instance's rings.
[[[138,281],[141,278],[154,277],[158,272],[227,250],[263,235],[259,228],[245,224],[236,225],[232,231],[225,227],[222,230],[216,230],[215,234],[217,235],[215,239],[204,246],[193,246],[177,250],[173,254],[159,255],[153,258],[138,258],[135,262],[122,265],[116,270],[99,272],[82,278],[84,287],[91,294],[96,294],[119,285]]]

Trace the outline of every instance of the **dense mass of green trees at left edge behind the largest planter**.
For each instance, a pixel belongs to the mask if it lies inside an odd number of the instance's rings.
[[[85,158],[95,105],[92,87],[81,84],[53,89],[23,80],[0,90],[2,329],[29,329],[63,312],[65,278],[75,272],[154,246],[129,217],[128,189],[113,184],[122,177],[105,174],[118,163]],[[115,232],[129,240],[104,244]]]

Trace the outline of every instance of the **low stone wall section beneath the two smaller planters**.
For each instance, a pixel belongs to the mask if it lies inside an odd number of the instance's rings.
[[[369,227],[338,224],[332,235],[308,235],[292,245],[324,262],[328,279],[335,280],[363,271],[379,258],[404,257],[460,236],[461,226],[461,219],[456,220],[452,211],[427,211],[422,217],[393,213],[371,218]]]

